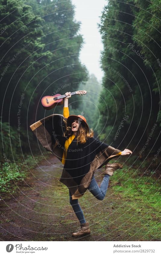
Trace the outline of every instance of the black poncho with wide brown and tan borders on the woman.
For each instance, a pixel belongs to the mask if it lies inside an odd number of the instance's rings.
[[[65,131],[64,116],[53,114],[30,125],[40,143],[46,150],[52,152],[62,161],[64,144],[68,137],[63,136]],[[94,137],[89,137],[85,144],[77,143],[76,138],[71,142],[67,151],[67,159],[60,182],[70,190],[72,199],[83,196],[91,178],[97,169],[118,157],[121,150],[115,149]]]

